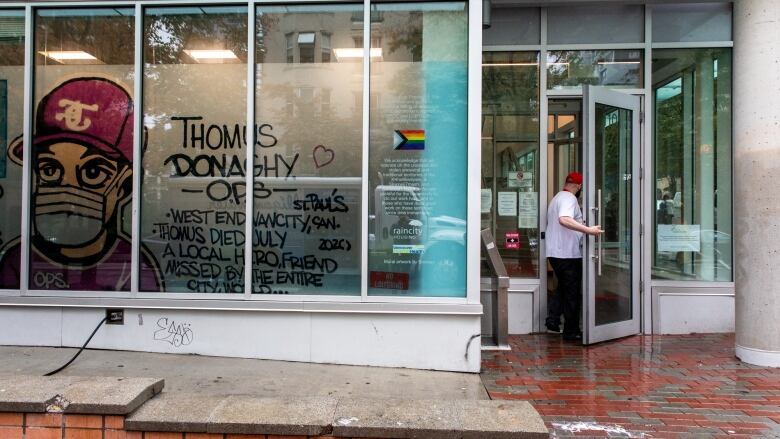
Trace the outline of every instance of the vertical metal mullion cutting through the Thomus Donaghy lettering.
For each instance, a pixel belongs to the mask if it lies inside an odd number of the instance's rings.
[[[247,78],[246,78],[246,196],[244,206],[244,299],[252,297],[252,216],[254,214],[254,169],[255,169],[255,2],[250,0],[247,9]]]

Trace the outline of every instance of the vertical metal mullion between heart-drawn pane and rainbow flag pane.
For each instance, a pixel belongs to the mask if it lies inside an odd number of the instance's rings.
[[[360,297],[368,300],[368,159],[369,159],[369,129],[371,104],[371,2],[363,0],[363,154],[361,160],[360,183]]]

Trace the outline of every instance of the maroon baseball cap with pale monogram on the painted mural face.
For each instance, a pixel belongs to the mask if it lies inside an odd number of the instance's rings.
[[[21,140],[21,138],[20,138]],[[133,162],[133,100],[105,78],[65,81],[41,99],[33,145],[60,141],[95,147],[106,155]],[[22,156],[22,142],[11,146]]]

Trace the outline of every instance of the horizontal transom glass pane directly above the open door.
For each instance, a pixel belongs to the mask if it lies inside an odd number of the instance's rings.
[[[560,50],[547,53],[547,88],[642,88],[642,50]]]

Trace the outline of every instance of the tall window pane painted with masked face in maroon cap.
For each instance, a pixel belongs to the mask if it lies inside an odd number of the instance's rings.
[[[35,14],[30,287],[130,289],[132,8]]]

